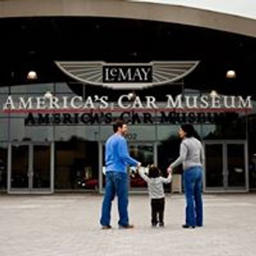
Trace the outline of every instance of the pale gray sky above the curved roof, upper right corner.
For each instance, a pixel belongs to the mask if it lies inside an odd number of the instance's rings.
[[[189,6],[256,19],[256,0],[131,0]]]

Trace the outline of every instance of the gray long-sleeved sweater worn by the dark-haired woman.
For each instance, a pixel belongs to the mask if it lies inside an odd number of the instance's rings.
[[[204,165],[204,147],[202,143],[194,137],[184,138],[180,144],[180,156],[170,166],[175,168],[182,163],[183,170],[194,166]]]

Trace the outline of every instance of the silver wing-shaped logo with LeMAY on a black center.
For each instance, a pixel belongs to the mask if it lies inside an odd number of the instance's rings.
[[[192,72],[199,61],[151,61],[106,63],[104,61],[56,61],[68,76],[86,84],[113,89],[143,89],[173,83]]]

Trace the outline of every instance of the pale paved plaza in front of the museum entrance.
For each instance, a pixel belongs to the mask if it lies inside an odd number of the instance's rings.
[[[184,230],[184,197],[167,195],[165,227],[150,227],[147,195],[130,196],[133,230],[99,225],[101,195],[0,195],[1,256],[250,256],[256,253],[256,195],[204,195],[204,227]]]

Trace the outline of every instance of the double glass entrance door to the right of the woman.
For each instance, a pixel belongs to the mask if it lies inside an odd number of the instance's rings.
[[[205,191],[248,191],[245,141],[204,141]]]

